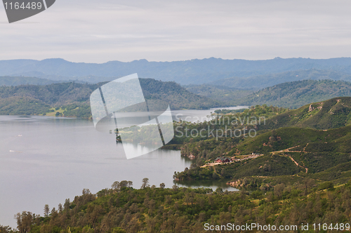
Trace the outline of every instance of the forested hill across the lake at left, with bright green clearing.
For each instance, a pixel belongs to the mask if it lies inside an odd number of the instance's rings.
[[[91,116],[89,98],[100,84],[74,82],[50,85],[22,85],[0,87],[0,114],[49,114],[58,111],[60,116]],[[174,82],[140,79],[147,98],[166,100],[171,109],[208,109],[223,107],[219,101],[190,93]],[[57,109],[51,109],[55,107]]]

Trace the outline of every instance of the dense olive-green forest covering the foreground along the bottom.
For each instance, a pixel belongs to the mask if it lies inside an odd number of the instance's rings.
[[[249,229],[239,230],[350,230],[351,182],[316,185],[309,178],[293,178],[253,192],[176,185],[166,189],[163,183],[150,187],[147,178],[140,189],[134,189],[132,183],[114,182],[111,188],[97,194],[84,189],[81,196],[73,201],[66,199],[58,208],[44,206],[44,215],[23,211],[15,215],[17,229],[0,226],[0,232],[232,232],[237,226],[247,225]],[[302,229],[307,224],[308,229]],[[268,225],[271,230],[264,230]]]

